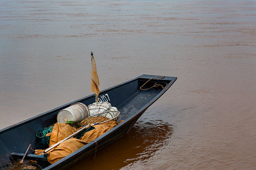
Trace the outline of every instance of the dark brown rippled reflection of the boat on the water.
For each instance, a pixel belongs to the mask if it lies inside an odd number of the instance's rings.
[[[163,120],[138,120],[122,137],[99,149],[95,154],[82,159],[69,169],[120,169],[134,162],[147,160],[163,149],[172,140],[174,125]],[[95,156],[95,160],[94,160]]]

